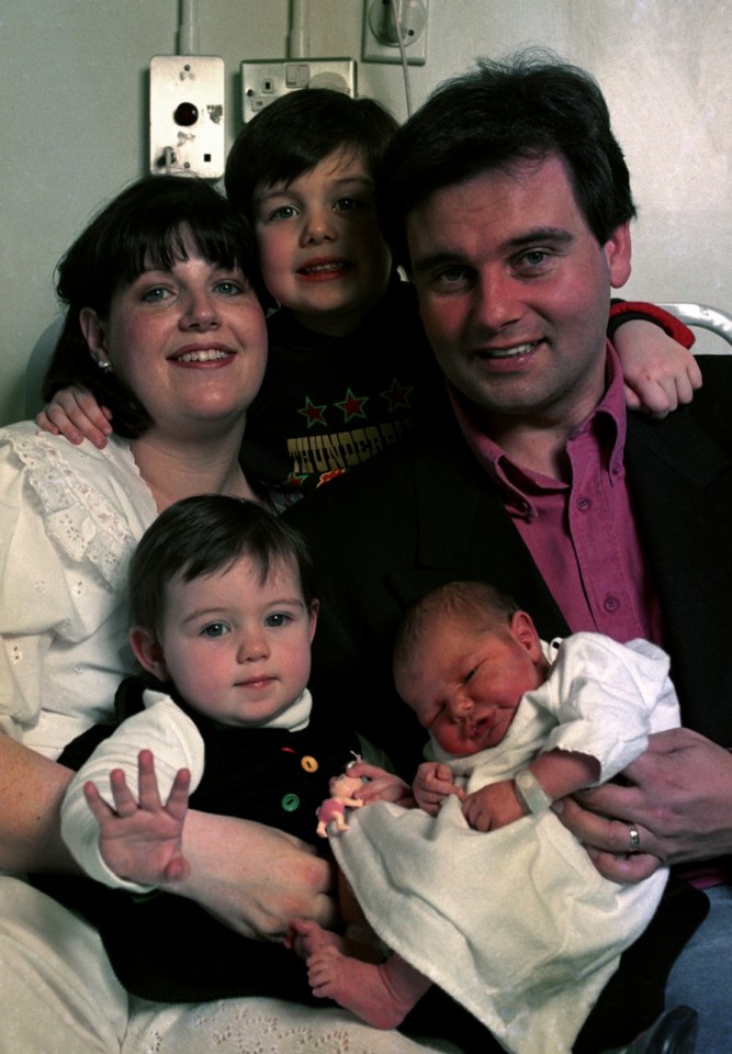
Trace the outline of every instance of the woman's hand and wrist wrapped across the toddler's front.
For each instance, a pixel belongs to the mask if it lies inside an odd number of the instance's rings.
[[[196,900],[244,937],[282,941],[295,917],[324,929],[337,922],[331,865],[284,831],[191,809],[183,853],[190,876],[167,892]]]

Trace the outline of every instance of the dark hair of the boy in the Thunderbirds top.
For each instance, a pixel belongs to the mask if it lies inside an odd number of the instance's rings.
[[[397,127],[373,99],[353,99],[330,88],[293,91],[239,132],[226,160],[226,195],[251,220],[258,186],[290,183],[338,149],[360,152],[367,171],[375,176]]]

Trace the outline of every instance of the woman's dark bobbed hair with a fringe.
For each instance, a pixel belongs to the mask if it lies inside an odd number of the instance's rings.
[[[188,258],[187,237],[210,262],[240,267],[266,302],[254,235],[219,193],[193,177],[138,180],[98,213],[58,265],[56,292],[66,318],[44,378],[44,399],[81,384],[112,411],[117,435],[136,439],[149,428],[150,416],[134,392],[93,361],[79,313],[93,307],[106,318],[114,293],[150,264],[168,269]]]

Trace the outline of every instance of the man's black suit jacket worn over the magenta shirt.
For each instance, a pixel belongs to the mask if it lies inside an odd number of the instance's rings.
[[[705,384],[689,407],[661,422],[630,415],[626,468],[684,724],[732,745],[732,357],[699,361]],[[394,694],[391,641],[412,601],[453,578],[485,579],[543,637],[568,631],[451,415],[286,516],[307,537],[322,585],[314,682],[348,692],[359,728],[405,770],[425,733]]]

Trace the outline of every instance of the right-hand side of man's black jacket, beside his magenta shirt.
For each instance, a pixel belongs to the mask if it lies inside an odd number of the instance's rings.
[[[626,469],[684,724],[732,745],[732,462],[683,408],[629,416]]]

